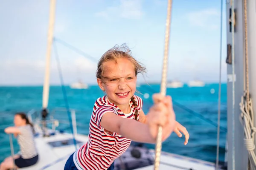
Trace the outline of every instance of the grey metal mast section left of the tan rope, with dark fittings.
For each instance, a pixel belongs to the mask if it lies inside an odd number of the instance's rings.
[[[232,3],[235,10],[235,33],[234,44],[232,44]],[[239,121],[241,114],[239,103],[244,93],[244,64],[243,64],[243,44],[244,44],[244,25],[243,25],[243,0],[227,0],[227,45],[234,47],[234,96],[233,96],[233,68],[232,63],[227,64],[227,167],[228,170],[247,170],[248,153],[244,146],[244,130]],[[227,48],[227,58],[231,62],[232,48]],[[234,112],[233,112],[234,97]]]

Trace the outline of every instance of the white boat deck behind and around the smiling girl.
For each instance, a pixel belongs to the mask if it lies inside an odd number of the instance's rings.
[[[50,137],[42,137],[41,135],[35,138],[37,145],[39,160],[38,163],[20,170],[63,170],[64,165],[69,156],[75,151],[73,144],[68,146],[52,147],[48,142],[65,141],[72,139],[69,133],[56,133]],[[76,140],[87,142],[88,137],[85,135],[76,135]],[[82,143],[82,144],[83,144]],[[78,147],[81,144],[78,144]],[[154,157],[154,150],[149,152]],[[129,154],[130,155],[130,154]],[[125,158],[129,159],[129,158]],[[134,158],[131,158],[134,159]],[[191,169],[190,169],[191,168]],[[137,168],[136,170],[153,170],[154,166]],[[215,164],[207,161],[201,161],[185,156],[162,152],[160,158],[160,170],[215,170]],[[119,168],[115,168],[119,170]]]

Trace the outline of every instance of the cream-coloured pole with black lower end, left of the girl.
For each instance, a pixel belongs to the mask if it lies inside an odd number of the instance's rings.
[[[49,10],[49,28],[47,37],[47,52],[46,52],[46,65],[44,74],[44,88],[43,88],[43,105],[42,105],[42,118],[44,127],[44,120],[47,117],[48,111],[48,99],[49,99],[49,78],[50,78],[50,63],[51,63],[51,51],[52,51],[52,39],[53,39],[53,29],[55,22],[55,6],[56,0],[50,0],[50,10]]]

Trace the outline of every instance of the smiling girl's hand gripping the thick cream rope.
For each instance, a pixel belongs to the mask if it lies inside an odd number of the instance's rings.
[[[170,96],[161,94],[153,95],[154,105],[147,114],[147,124],[151,136],[156,139],[158,126],[163,127],[162,139],[167,139],[175,128],[175,113],[172,108],[172,99]]]

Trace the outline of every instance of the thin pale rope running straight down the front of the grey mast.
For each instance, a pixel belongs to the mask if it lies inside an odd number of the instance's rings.
[[[231,0],[230,5],[232,6],[231,20],[232,20],[232,169],[235,170],[235,13],[234,3]]]

